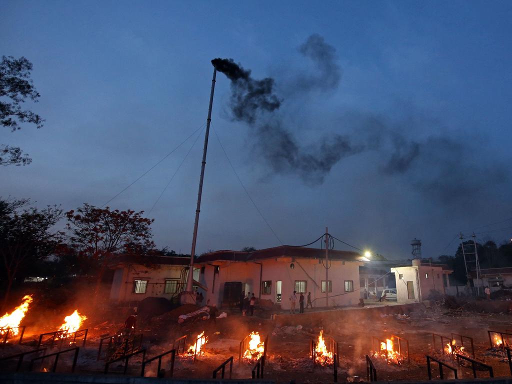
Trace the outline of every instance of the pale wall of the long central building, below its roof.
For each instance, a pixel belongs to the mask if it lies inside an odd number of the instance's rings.
[[[260,266],[261,263],[263,267]],[[219,273],[216,274],[215,287],[211,292],[210,287],[213,286],[214,267],[205,266],[204,280],[208,287],[206,292],[206,300],[210,304],[220,306],[222,304],[223,288],[226,282],[242,282],[246,284],[246,292],[254,292],[255,296],[260,296],[260,270],[262,281],[271,282],[270,294],[261,294],[263,300],[271,300],[276,302],[276,282],[282,282],[282,302],[283,309],[290,308],[289,296],[293,293],[296,280],[306,281],[306,294],[311,292],[311,300],[313,305],[324,307],[325,292],[321,291],[321,281],[325,281],[325,267],[318,260],[314,259],[295,259],[278,258],[262,260],[258,263],[254,262],[223,262],[216,263],[219,265]],[[290,264],[294,264],[294,268],[290,268]],[[333,305],[356,305],[359,302],[359,265],[360,262],[342,262],[331,261],[331,267],[328,270],[329,280],[332,285],[332,292],[329,292],[330,306]],[[352,281],[354,291],[345,292],[345,281]],[[316,284],[315,284],[316,282]],[[317,299],[315,301],[315,299]],[[298,303],[297,303],[298,308]]]

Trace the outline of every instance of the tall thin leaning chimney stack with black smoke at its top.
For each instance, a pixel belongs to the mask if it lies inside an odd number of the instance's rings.
[[[211,92],[210,92],[210,104],[208,106],[208,118],[206,119],[206,133],[204,134],[204,147],[203,147],[203,161],[201,163],[201,176],[199,178],[199,191],[197,194],[197,208],[196,208],[196,221],[194,222],[194,234],[192,237],[192,249],[190,250],[190,264],[188,266],[188,277],[186,293],[181,297],[183,302],[195,303],[195,297],[193,296],[192,285],[194,280],[194,254],[196,253],[196,241],[197,241],[197,229],[199,226],[199,212],[201,212],[201,195],[203,193],[203,179],[204,179],[204,168],[206,165],[206,151],[208,150],[208,135],[210,133],[210,122],[211,122],[211,108],[214,104],[214,91],[215,91],[215,77],[217,75],[217,68],[214,67],[214,76],[211,79]]]

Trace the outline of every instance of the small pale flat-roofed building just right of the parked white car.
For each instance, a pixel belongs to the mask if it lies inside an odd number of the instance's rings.
[[[448,276],[453,272],[446,265],[413,259],[410,265],[391,268],[395,274],[398,303],[416,303],[426,300],[431,291],[447,294]]]

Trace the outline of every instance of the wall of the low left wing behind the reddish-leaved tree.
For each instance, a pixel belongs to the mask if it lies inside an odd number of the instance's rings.
[[[110,291],[111,300],[118,302],[141,301],[146,297],[171,298],[173,293],[164,293],[166,279],[180,279],[184,266],[160,265],[148,268],[143,265],[127,265],[114,272],[114,280]],[[136,279],[147,280],[145,293],[133,293]]]

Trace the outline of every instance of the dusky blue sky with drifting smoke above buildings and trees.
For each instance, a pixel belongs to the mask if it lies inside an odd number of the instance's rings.
[[[197,253],[306,244],[326,226],[390,259],[410,258],[413,238],[423,257],[453,254],[459,231],[499,244],[512,238],[510,20],[497,1],[4,0],[0,53],[32,62],[41,97],[25,106],[46,121],[0,131],[33,160],[0,168],[0,196],[102,206],[205,123],[210,60],[232,58],[274,80],[279,108],[237,117],[217,74]],[[159,247],[190,252],[203,140],[108,204],[154,218]]]

